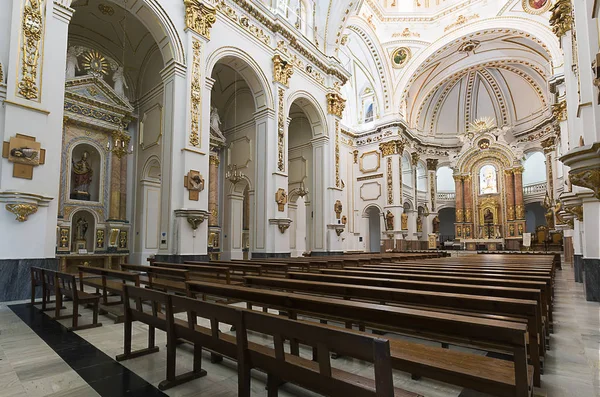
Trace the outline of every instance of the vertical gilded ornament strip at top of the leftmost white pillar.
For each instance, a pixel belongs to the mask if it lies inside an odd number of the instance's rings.
[[[22,20],[21,78],[17,95],[25,99],[39,99],[38,62],[44,32],[45,0],[26,0]]]

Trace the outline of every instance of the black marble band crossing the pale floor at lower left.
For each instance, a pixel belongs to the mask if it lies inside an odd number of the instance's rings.
[[[10,309],[102,397],[167,397],[57,321],[26,304]],[[1,394],[1,393],[0,393]]]

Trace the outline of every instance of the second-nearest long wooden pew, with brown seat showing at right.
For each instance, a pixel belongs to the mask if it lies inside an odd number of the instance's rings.
[[[477,356],[473,361],[476,365],[472,366],[465,360],[465,353],[459,357],[454,355],[457,352],[440,348],[436,351],[439,356],[434,360],[431,352],[425,356],[418,353],[411,356],[399,348],[396,355],[392,353],[392,363],[394,368],[402,371],[497,396],[528,396],[533,390],[529,387],[533,370],[528,372],[525,324],[240,286],[193,281],[187,284],[190,294],[206,293],[253,302],[285,310],[292,319],[305,314],[342,322],[357,321],[375,329],[423,335],[447,343],[460,341],[464,344],[465,340],[470,340],[472,346],[477,345],[480,349],[510,352],[513,362],[498,360],[496,365],[491,361],[496,359],[485,357],[490,361],[482,365],[477,361],[481,356]]]

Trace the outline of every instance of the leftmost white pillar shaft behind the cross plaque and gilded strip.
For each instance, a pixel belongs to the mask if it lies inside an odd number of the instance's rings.
[[[33,168],[32,179],[13,177],[13,163],[0,159],[0,259],[54,258],[60,188],[60,160],[65,91],[65,66],[69,21],[74,10],[68,1],[41,2],[42,25],[38,42],[39,58],[34,67],[37,95],[26,98],[18,93],[22,80],[22,7],[12,2],[8,35],[0,39],[0,52],[7,79],[6,98],[0,107],[0,137],[8,141],[17,133],[35,138],[46,150],[45,164]],[[5,7],[2,12],[9,12]],[[0,84],[0,87],[3,84]],[[6,204],[32,205],[37,209],[24,222],[6,209]],[[24,208],[24,207],[22,207]]]

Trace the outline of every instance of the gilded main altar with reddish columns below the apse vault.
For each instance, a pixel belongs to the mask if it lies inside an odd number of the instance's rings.
[[[467,132],[452,158],[455,236],[467,250],[521,246],[526,230],[523,152],[508,144],[507,133],[506,128]]]

